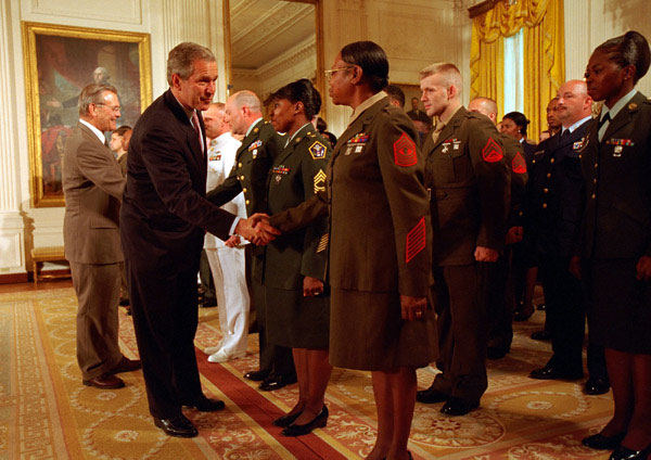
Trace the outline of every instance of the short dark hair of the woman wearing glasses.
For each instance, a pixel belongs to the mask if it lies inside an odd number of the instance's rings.
[[[342,48],[341,55],[344,62],[361,67],[363,80],[374,92],[388,85],[388,59],[378,43],[355,41]]]

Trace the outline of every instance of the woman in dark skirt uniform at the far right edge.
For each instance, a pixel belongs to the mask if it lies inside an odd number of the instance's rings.
[[[582,153],[582,271],[590,340],[605,347],[615,413],[584,444],[614,449],[616,460],[651,451],[651,100],[635,89],[650,59],[644,37],[629,31],[600,44],[585,75],[603,108]]]

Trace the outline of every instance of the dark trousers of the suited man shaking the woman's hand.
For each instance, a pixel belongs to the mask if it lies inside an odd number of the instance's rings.
[[[127,261],[133,327],[152,416],[171,419],[203,397],[194,334],[196,266],[184,271],[138,270]]]

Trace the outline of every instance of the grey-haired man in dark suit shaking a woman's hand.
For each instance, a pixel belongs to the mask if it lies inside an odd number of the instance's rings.
[[[131,136],[120,212],[129,295],[144,382],[156,426],[196,436],[181,406],[224,408],[204,396],[194,352],[196,272],[207,230],[253,239],[245,219],[205,200],[206,139],[201,111],[215,93],[217,63],[184,42],[167,60],[169,90],[142,114]]]

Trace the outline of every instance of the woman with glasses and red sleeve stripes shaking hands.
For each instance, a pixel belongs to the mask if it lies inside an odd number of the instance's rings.
[[[378,439],[368,458],[408,459],[416,369],[437,357],[425,162],[413,123],[382,91],[382,48],[345,46],[327,76],[332,102],[354,110],[328,165],[328,193],[269,223],[291,231],[329,205],[330,362],[371,371]]]

